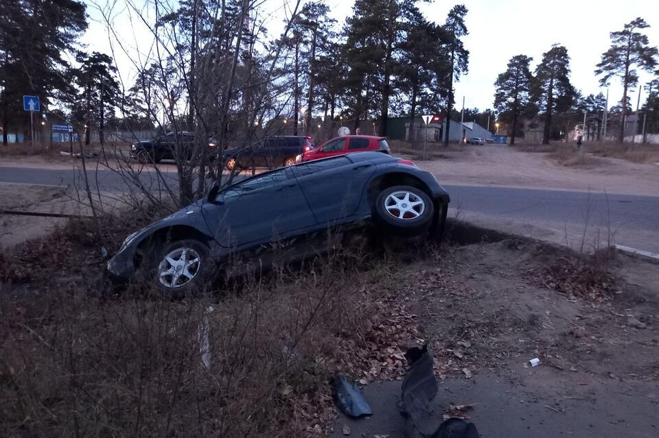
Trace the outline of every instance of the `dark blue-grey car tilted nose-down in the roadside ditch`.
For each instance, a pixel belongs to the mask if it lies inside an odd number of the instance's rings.
[[[439,235],[448,193],[408,160],[359,152],[302,162],[213,187],[205,199],[128,236],[109,260],[115,282],[140,278],[172,297],[215,276],[267,269],[317,250],[328,230],[370,227],[378,236]],[[241,268],[242,267],[242,268]]]

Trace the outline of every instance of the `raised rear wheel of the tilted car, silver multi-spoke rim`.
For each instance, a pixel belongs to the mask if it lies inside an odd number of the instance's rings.
[[[435,217],[432,199],[420,188],[393,186],[375,199],[375,221],[399,236],[417,236]]]

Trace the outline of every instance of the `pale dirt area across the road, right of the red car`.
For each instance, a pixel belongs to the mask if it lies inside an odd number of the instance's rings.
[[[443,184],[606,191],[649,196],[659,193],[658,164],[597,157],[596,164],[566,167],[547,158],[547,154],[519,151],[505,145],[465,145],[460,151],[444,151],[441,146],[432,145],[428,150],[439,154],[440,158],[415,160],[420,167],[435,173]]]

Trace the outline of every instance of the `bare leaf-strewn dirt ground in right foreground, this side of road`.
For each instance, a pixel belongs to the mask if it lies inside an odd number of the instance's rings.
[[[483,437],[656,437],[659,264],[610,263],[594,275],[557,247],[506,239],[403,268],[401,298],[440,379],[435,413],[474,404]],[[365,396],[373,417],[340,415],[332,436],[402,437],[400,380]]]

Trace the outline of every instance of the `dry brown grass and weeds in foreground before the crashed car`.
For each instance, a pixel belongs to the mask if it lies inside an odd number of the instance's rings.
[[[103,225],[110,248],[137,226]],[[0,260],[1,436],[316,434],[334,372],[402,373],[415,324],[386,260],[340,252],[194,299],[143,284],[100,299],[92,229],[71,223]]]

